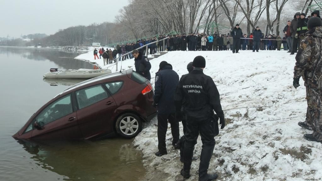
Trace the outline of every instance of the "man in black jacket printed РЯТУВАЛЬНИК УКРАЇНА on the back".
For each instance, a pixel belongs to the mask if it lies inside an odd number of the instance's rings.
[[[217,174],[208,174],[209,162],[215,146],[214,136],[218,135],[218,119],[215,119],[213,110],[220,118],[221,129],[225,126],[223,110],[220,104],[219,92],[213,79],[203,73],[206,66],[204,57],[194,58],[194,70],[183,75],[175,93],[176,119],[181,120],[181,107],[184,106],[187,132],[185,135],[184,166],[181,175],[190,177],[193,148],[200,133],[203,142],[199,181],[209,181],[217,178]]]

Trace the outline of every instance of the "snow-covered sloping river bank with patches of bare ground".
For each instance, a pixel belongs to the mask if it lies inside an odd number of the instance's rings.
[[[169,52],[150,61],[151,77],[155,77],[161,61],[171,63],[179,76],[186,74],[187,63],[197,55],[205,57],[204,73],[213,78],[222,94],[227,123],[215,137],[209,173],[219,173],[217,180],[321,180],[321,143],[305,140],[303,134],[312,131],[297,125],[305,120],[307,104],[303,81],[298,89],[292,86],[295,56],[286,51]],[[92,51],[77,58],[94,61]],[[102,63],[101,59],[98,64]],[[133,65],[133,59],[126,60],[123,69]],[[147,180],[184,180],[179,151],[171,145],[170,126],[166,137],[168,155],[154,155],[156,125],[156,119],[147,123],[133,142],[143,152]],[[201,146],[199,137],[194,150],[198,158]],[[198,179],[198,166],[199,160],[193,161],[192,176],[187,180]]]

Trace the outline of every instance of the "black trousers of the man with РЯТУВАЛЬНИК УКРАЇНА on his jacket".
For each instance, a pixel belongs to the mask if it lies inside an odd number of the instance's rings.
[[[184,166],[185,170],[191,169],[191,162],[193,157],[194,145],[197,142],[197,138],[201,136],[201,141],[203,143],[200,164],[199,164],[199,180],[208,180],[207,170],[209,167],[210,159],[213,155],[213,148],[215,146],[214,137],[214,123],[212,118],[206,119],[195,119],[186,116],[186,127],[187,132],[185,135],[185,148],[184,148]]]

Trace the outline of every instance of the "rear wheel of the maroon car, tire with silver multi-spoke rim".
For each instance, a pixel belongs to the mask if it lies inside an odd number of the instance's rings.
[[[125,113],[116,120],[116,132],[124,138],[134,138],[142,130],[142,120],[135,114]]]

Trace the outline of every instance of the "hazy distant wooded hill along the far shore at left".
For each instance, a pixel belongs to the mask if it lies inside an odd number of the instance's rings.
[[[18,39],[0,38],[1,46],[91,46],[93,42],[101,45],[126,41],[133,35],[116,23],[104,22],[102,24],[91,24],[89,26],[72,26],[59,30],[52,35],[29,34]],[[42,36],[41,36],[42,35]],[[33,39],[23,41],[23,39]]]

